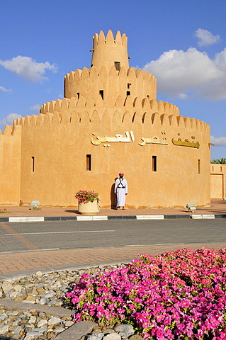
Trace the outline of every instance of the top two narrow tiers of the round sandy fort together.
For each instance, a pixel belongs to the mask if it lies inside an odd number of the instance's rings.
[[[156,78],[142,69],[130,67],[128,62],[128,38],[120,31],[113,37],[111,30],[104,35],[101,30],[93,37],[94,48],[91,50],[91,68],[71,71],[64,77],[64,98],[83,97],[97,107],[101,101],[115,104],[118,96],[123,102],[130,97],[156,99]],[[109,105],[109,102],[108,104]]]

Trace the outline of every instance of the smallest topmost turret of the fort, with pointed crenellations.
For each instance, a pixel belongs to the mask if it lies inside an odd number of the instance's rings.
[[[93,52],[91,67],[95,66],[98,70],[102,66],[110,69],[113,65],[117,71],[123,66],[125,69],[129,68],[128,38],[125,33],[121,35],[119,30],[115,38],[111,30],[108,30],[106,37],[103,30],[100,31],[99,35],[96,33],[93,37],[91,52]]]

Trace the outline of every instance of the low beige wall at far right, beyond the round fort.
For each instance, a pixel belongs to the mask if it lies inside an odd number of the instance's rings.
[[[226,164],[210,164],[210,198],[226,196]]]

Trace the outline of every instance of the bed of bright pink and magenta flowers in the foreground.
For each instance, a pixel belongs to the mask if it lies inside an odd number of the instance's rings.
[[[145,339],[226,339],[226,249],[140,255],[81,276],[64,297],[74,320],[132,324]]]

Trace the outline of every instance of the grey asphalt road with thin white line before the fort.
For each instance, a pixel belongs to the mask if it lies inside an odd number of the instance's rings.
[[[224,219],[0,222],[0,253],[219,242],[226,246]]]

